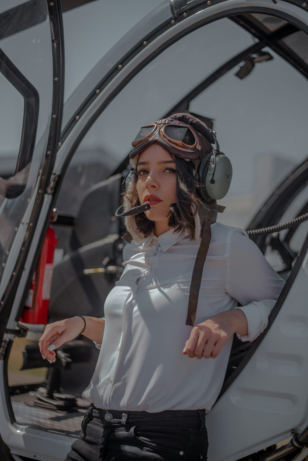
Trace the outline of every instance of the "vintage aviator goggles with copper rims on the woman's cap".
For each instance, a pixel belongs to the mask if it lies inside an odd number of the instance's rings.
[[[133,150],[130,160],[154,142],[158,142],[168,152],[188,160],[202,159],[206,152],[213,151],[211,143],[190,125],[166,118],[141,127],[131,143]]]

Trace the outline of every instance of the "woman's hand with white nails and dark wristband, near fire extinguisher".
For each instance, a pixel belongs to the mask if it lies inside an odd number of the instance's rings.
[[[81,317],[71,317],[70,319],[59,320],[46,325],[39,340],[43,359],[47,359],[50,363],[55,362],[56,353],[54,349],[62,346],[67,341],[75,339],[81,333],[83,327],[84,322]]]

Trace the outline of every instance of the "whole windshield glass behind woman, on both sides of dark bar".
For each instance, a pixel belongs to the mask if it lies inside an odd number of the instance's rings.
[[[255,42],[224,18],[186,35],[149,63],[83,138],[66,173],[59,210],[77,216],[84,192],[95,183],[91,178],[98,182],[108,177],[129,153],[142,125],[169,114],[198,84]],[[279,181],[308,155],[307,80],[272,49],[264,47],[262,53],[272,59],[256,62],[239,78],[244,59],[184,107],[213,120],[220,148],[233,165],[231,188],[221,201],[226,210],[219,220],[244,228]]]

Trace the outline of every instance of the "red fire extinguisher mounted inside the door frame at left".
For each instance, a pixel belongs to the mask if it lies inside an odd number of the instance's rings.
[[[20,321],[30,324],[48,322],[51,282],[53,278],[53,254],[58,245],[58,238],[52,226],[49,226],[41,249],[25,301]]]

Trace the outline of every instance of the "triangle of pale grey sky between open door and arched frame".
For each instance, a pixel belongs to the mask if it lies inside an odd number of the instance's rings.
[[[162,2],[163,0],[96,0],[63,12],[64,101],[113,45]]]

